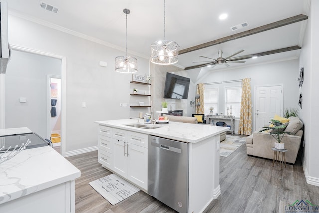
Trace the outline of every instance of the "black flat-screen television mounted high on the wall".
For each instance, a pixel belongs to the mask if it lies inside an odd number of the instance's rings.
[[[164,98],[187,99],[190,78],[166,73]]]

